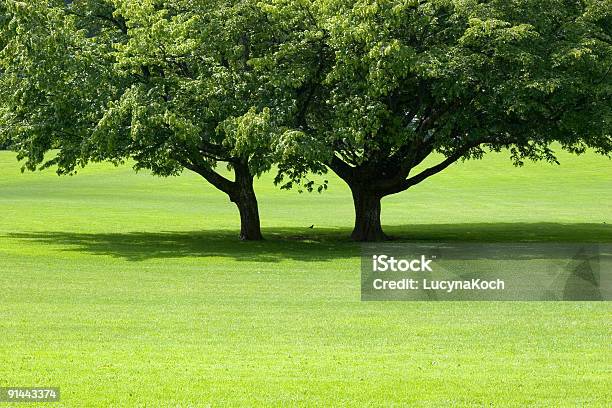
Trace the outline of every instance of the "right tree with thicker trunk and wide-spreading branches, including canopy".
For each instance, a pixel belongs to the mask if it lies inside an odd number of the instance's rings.
[[[300,73],[277,181],[328,166],[352,191],[355,240],[385,239],[381,199],[458,160],[612,151],[610,0],[278,0],[267,12],[293,33],[268,64]]]

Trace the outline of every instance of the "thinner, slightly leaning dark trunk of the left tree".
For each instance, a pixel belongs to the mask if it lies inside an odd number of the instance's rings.
[[[261,224],[259,221],[259,207],[253,189],[253,175],[248,168],[236,166],[236,191],[230,199],[238,206],[240,212],[240,239],[243,241],[259,241]]]

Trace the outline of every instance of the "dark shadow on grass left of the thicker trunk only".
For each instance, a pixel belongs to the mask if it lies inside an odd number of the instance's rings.
[[[333,233],[300,234],[298,230],[264,231],[264,241],[240,241],[233,230],[78,233],[65,231],[10,233],[24,242],[59,246],[60,251],[107,255],[128,261],[184,257],[221,257],[238,261],[283,259],[324,261],[359,256],[359,246]],[[340,238],[342,234],[338,234]]]

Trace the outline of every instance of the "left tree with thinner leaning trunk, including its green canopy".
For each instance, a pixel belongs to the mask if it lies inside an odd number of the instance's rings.
[[[261,239],[253,179],[273,162],[283,112],[251,66],[273,48],[256,2],[0,4],[0,130],[26,169],[70,174],[127,159],[161,176],[187,168],[237,205],[241,239]]]

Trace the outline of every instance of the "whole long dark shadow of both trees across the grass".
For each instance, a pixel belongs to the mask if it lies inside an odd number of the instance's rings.
[[[607,224],[472,223],[387,227],[393,242],[612,242]],[[231,230],[78,233],[9,233],[4,238],[60,246],[60,250],[107,255],[128,261],[223,257],[238,261],[330,261],[355,258],[360,245],[348,229],[269,228],[265,241],[241,242]]]

